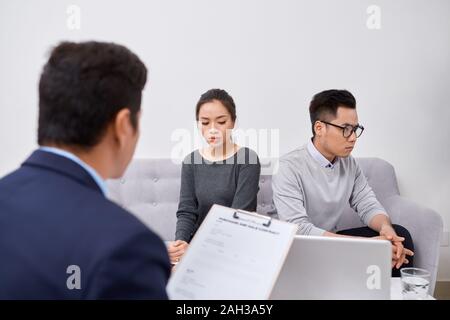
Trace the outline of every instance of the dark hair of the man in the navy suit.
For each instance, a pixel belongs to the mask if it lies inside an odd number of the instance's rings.
[[[124,46],[60,43],[39,81],[38,143],[95,146],[123,108],[136,128],[146,81],[147,68]]]

